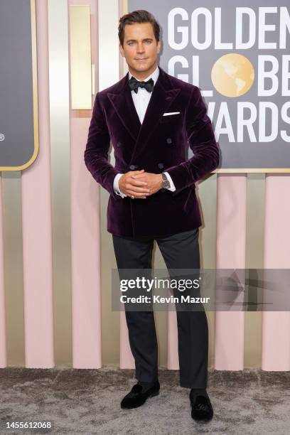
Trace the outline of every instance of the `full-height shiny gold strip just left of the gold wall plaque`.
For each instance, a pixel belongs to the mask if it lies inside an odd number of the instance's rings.
[[[73,362],[68,1],[48,0],[53,316],[56,366]]]

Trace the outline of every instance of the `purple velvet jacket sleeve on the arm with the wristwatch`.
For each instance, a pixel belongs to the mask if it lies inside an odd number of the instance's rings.
[[[187,161],[164,169],[176,186],[173,195],[203,178],[207,173],[214,171],[220,161],[213,127],[197,86],[193,87],[186,107],[185,129],[188,144],[194,155]]]

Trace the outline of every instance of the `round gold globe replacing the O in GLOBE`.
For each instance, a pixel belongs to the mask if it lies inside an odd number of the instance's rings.
[[[245,56],[229,53],[216,60],[211,80],[215,89],[225,97],[240,97],[252,87],[254,67]]]

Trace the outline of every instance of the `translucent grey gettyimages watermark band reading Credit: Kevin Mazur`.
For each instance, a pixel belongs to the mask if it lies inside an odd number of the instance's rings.
[[[290,269],[112,269],[113,311],[290,311]]]

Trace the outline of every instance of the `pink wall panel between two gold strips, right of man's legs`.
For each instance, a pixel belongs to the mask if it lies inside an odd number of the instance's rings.
[[[246,252],[246,175],[218,175],[217,269],[244,269]],[[215,313],[215,369],[242,370],[243,311]]]

